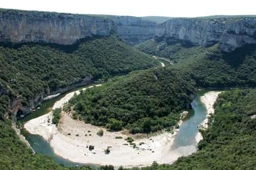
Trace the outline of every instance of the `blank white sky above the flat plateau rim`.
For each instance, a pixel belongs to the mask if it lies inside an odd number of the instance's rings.
[[[3,0],[0,8],[129,16],[256,15],[255,0]]]

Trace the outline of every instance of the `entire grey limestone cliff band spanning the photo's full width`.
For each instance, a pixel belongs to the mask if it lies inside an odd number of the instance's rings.
[[[72,44],[92,35],[109,36],[117,32],[131,45],[154,37],[169,41],[185,40],[194,45],[220,42],[230,52],[245,43],[256,43],[256,19],[244,18],[228,23],[226,19],[170,19],[156,22],[132,16],[89,16],[44,12],[0,13],[0,41],[54,42]]]

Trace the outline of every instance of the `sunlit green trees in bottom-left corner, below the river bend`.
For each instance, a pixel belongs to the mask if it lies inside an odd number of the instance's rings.
[[[49,155],[33,153],[32,149],[19,140],[11,127],[11,120],[0,120],[0,165],[1,169],[77,169],[57,164]],[[86,169],[86,167],[84,167]]]

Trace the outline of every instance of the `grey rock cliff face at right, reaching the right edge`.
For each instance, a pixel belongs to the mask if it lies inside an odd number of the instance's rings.
[[[185,40],[194,45],[220,42],[223,51],[230,52],[245,43],[256,43],[256,19],[241,19],[230,24],[185,19],[170,19],[156,28],[156,38]]]

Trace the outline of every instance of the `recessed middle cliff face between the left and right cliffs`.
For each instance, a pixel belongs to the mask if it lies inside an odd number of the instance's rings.
[[[156,22],[133,16],[109,16],[117,25],[117,33],[131,45],[154,38]]]

